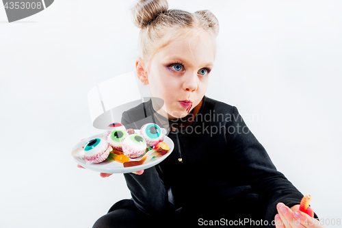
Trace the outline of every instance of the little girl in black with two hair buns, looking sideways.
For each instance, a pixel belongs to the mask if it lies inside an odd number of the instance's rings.
[[[136,73],[152,98],[124,112],[121,123],[165,127],[174,151],[124,174],[132,199],[114,204],[94,227],[321,227],[309,223],[317,218],[310,207],[311,216],[298,211],[303,195],[276,170],[237,107],[205,96],[217,18],[209,10],[168,10],[166,0],[140,0],[133,18],[141,28]]]

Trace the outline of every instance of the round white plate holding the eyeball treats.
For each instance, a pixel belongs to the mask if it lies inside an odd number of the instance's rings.
[[[140,132],[140,130],[134,130],[134,131],[135,131],[135,134],[139,134]],[[97,134],[95,136],[91,136],[91,137],[81,140],[81,142],[75,145],[72,151],[75,151],[77,147],[84,147],[86,143],[89,142],[89,140],[91,140],[92,138],[100,138],[101,136],[105,136],[105,133]],[[159,164],[164,159],[166,159],[166,157],[168,157],[168,155],[172,153],[174,149],[174,143],[172,142],[170,138],[168,138],[168,136],[165,136],[163,142],[168,144],[168,146],[170,147],[170,150],[168,151],[168,153],[166,153],[165,155],[161,157],[155,157],[151,159],[148,163],[142,164],[140,166],[124,167],[124,165],[120,162],[107,161],[107,160],[105,160],[104,162],[96,163],[96,164],[90,164],[89,162],[86,162],[85,160],[79,157],[74,157],[74,159],[77,162],[77,164],[79,164],[80,166],[83,166],[84,168],[88,168],[90,170],[94,170],[94,171],[101,172],[101,173],[131,173],[131,172],[143,170],[146,168],[150,168],[152,166],[155,166],[156,164]],[[129,161],[139,161],[141,157],[142,156],[137,157],[137,158],[130,158]]]

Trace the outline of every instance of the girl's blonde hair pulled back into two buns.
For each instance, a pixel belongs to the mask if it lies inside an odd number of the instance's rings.
[[[218,19],[209,10],[194,13],[168,10],[166,0],[139,0],[132,10],[133,22],[139,27],[140,57],[148,63],[158,49],[189,31],[207,31],[213,38],[218,36]],[[189,31],[186,31],[186,30]]]

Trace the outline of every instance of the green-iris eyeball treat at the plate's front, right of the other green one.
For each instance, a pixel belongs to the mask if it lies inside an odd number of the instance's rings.
[[[121,142],[122,152],[127,157],[140,157],[146,153],[146,141],[138,134],[129,135]]]

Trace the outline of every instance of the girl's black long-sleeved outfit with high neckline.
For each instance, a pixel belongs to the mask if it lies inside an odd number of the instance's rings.
[[[122,114],[127,129],[168,129],[174,151],[142,175],[124,174],[132,199],[116,203],[94,227],[120,227],[121,218],[131,223],[122,227],[274,227],[278,202],[300,203],[302,193],[276,170],[236,107],[204,96],[193,112],[170,121],[149,100]]]

